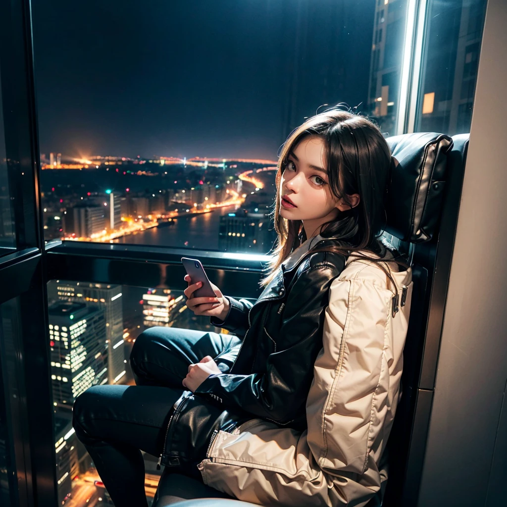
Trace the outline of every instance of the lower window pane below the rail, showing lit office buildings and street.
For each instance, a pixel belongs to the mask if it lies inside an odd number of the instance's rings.
[[[112,505],[72,427],[76,397],[92,385],[135,385],[128,358],[144,329],[227,331],[190,311],[183,291],[69,280],[51,280],[47,287],[58,501],[68,507]],[[144,465],[151,503],[161,471],[148,454]]]

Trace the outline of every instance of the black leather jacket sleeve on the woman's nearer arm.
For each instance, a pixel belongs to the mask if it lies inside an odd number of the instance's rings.
[[[278,424],[288,424],[301,416],[313,378],[313,365],[322,347],[329,287],[338,274],[336,267],[322,263],[297,276],[287,296],[277,336],[265,337],[275,343],[265,372],[212,375],[195,392],[212,393],[227,408],[237,407]],[[266,328],[262,332],[267,334]]]

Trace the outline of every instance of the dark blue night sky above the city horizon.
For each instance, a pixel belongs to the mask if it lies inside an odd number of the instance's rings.
[[[375,0],[38,0],[41,152],[276,159],[366,102]]]

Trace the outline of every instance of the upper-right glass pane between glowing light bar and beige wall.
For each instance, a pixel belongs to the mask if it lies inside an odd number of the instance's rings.
[[[470,131],[486,0],[428,4],[416,132]]]

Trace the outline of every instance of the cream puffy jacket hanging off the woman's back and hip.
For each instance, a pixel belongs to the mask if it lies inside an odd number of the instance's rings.
[[[240,500],[291,507],[366,505],[380,489],[412,294],[411,270],[384,266],[399,292],[396,313],[394,287],[374,263],[349,258],[331,285],[308,429],[253,419],[220,431],[199,464],[205,484]]]

